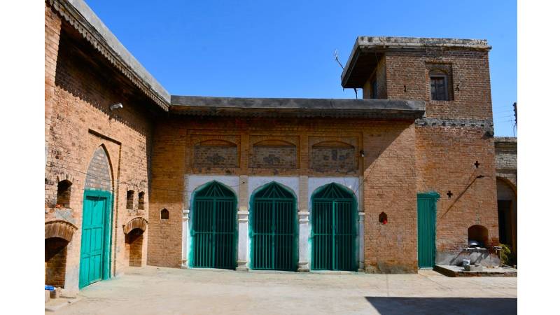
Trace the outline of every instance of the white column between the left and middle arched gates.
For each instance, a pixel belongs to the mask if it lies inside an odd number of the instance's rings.
[[[239,176],[239,209],[237,211],[237,268],[247,271],[248,257],[248,176]]]

